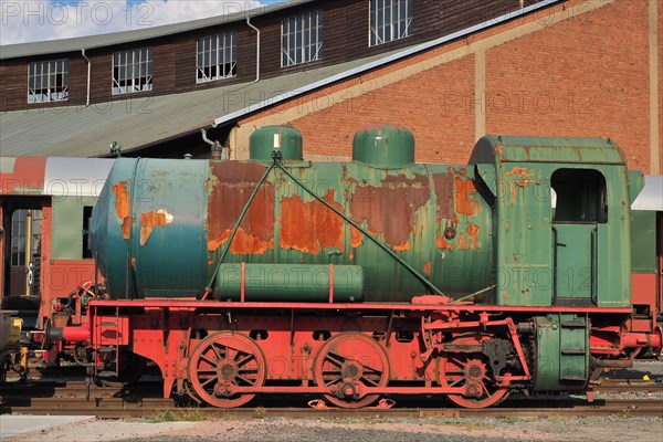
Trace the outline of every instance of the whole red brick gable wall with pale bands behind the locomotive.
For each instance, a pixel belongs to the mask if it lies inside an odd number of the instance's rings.
[[[566,2],[255,114],[236,139],[285,123],[302,130],[305,155],[348,157],[355,130],[383,122],[413,130],[418,161],[462,164],[483,118],[492,134],[610,137],[649,173],[648,14],[641,0]],[[477,51],[485,91],[475,90]]]

